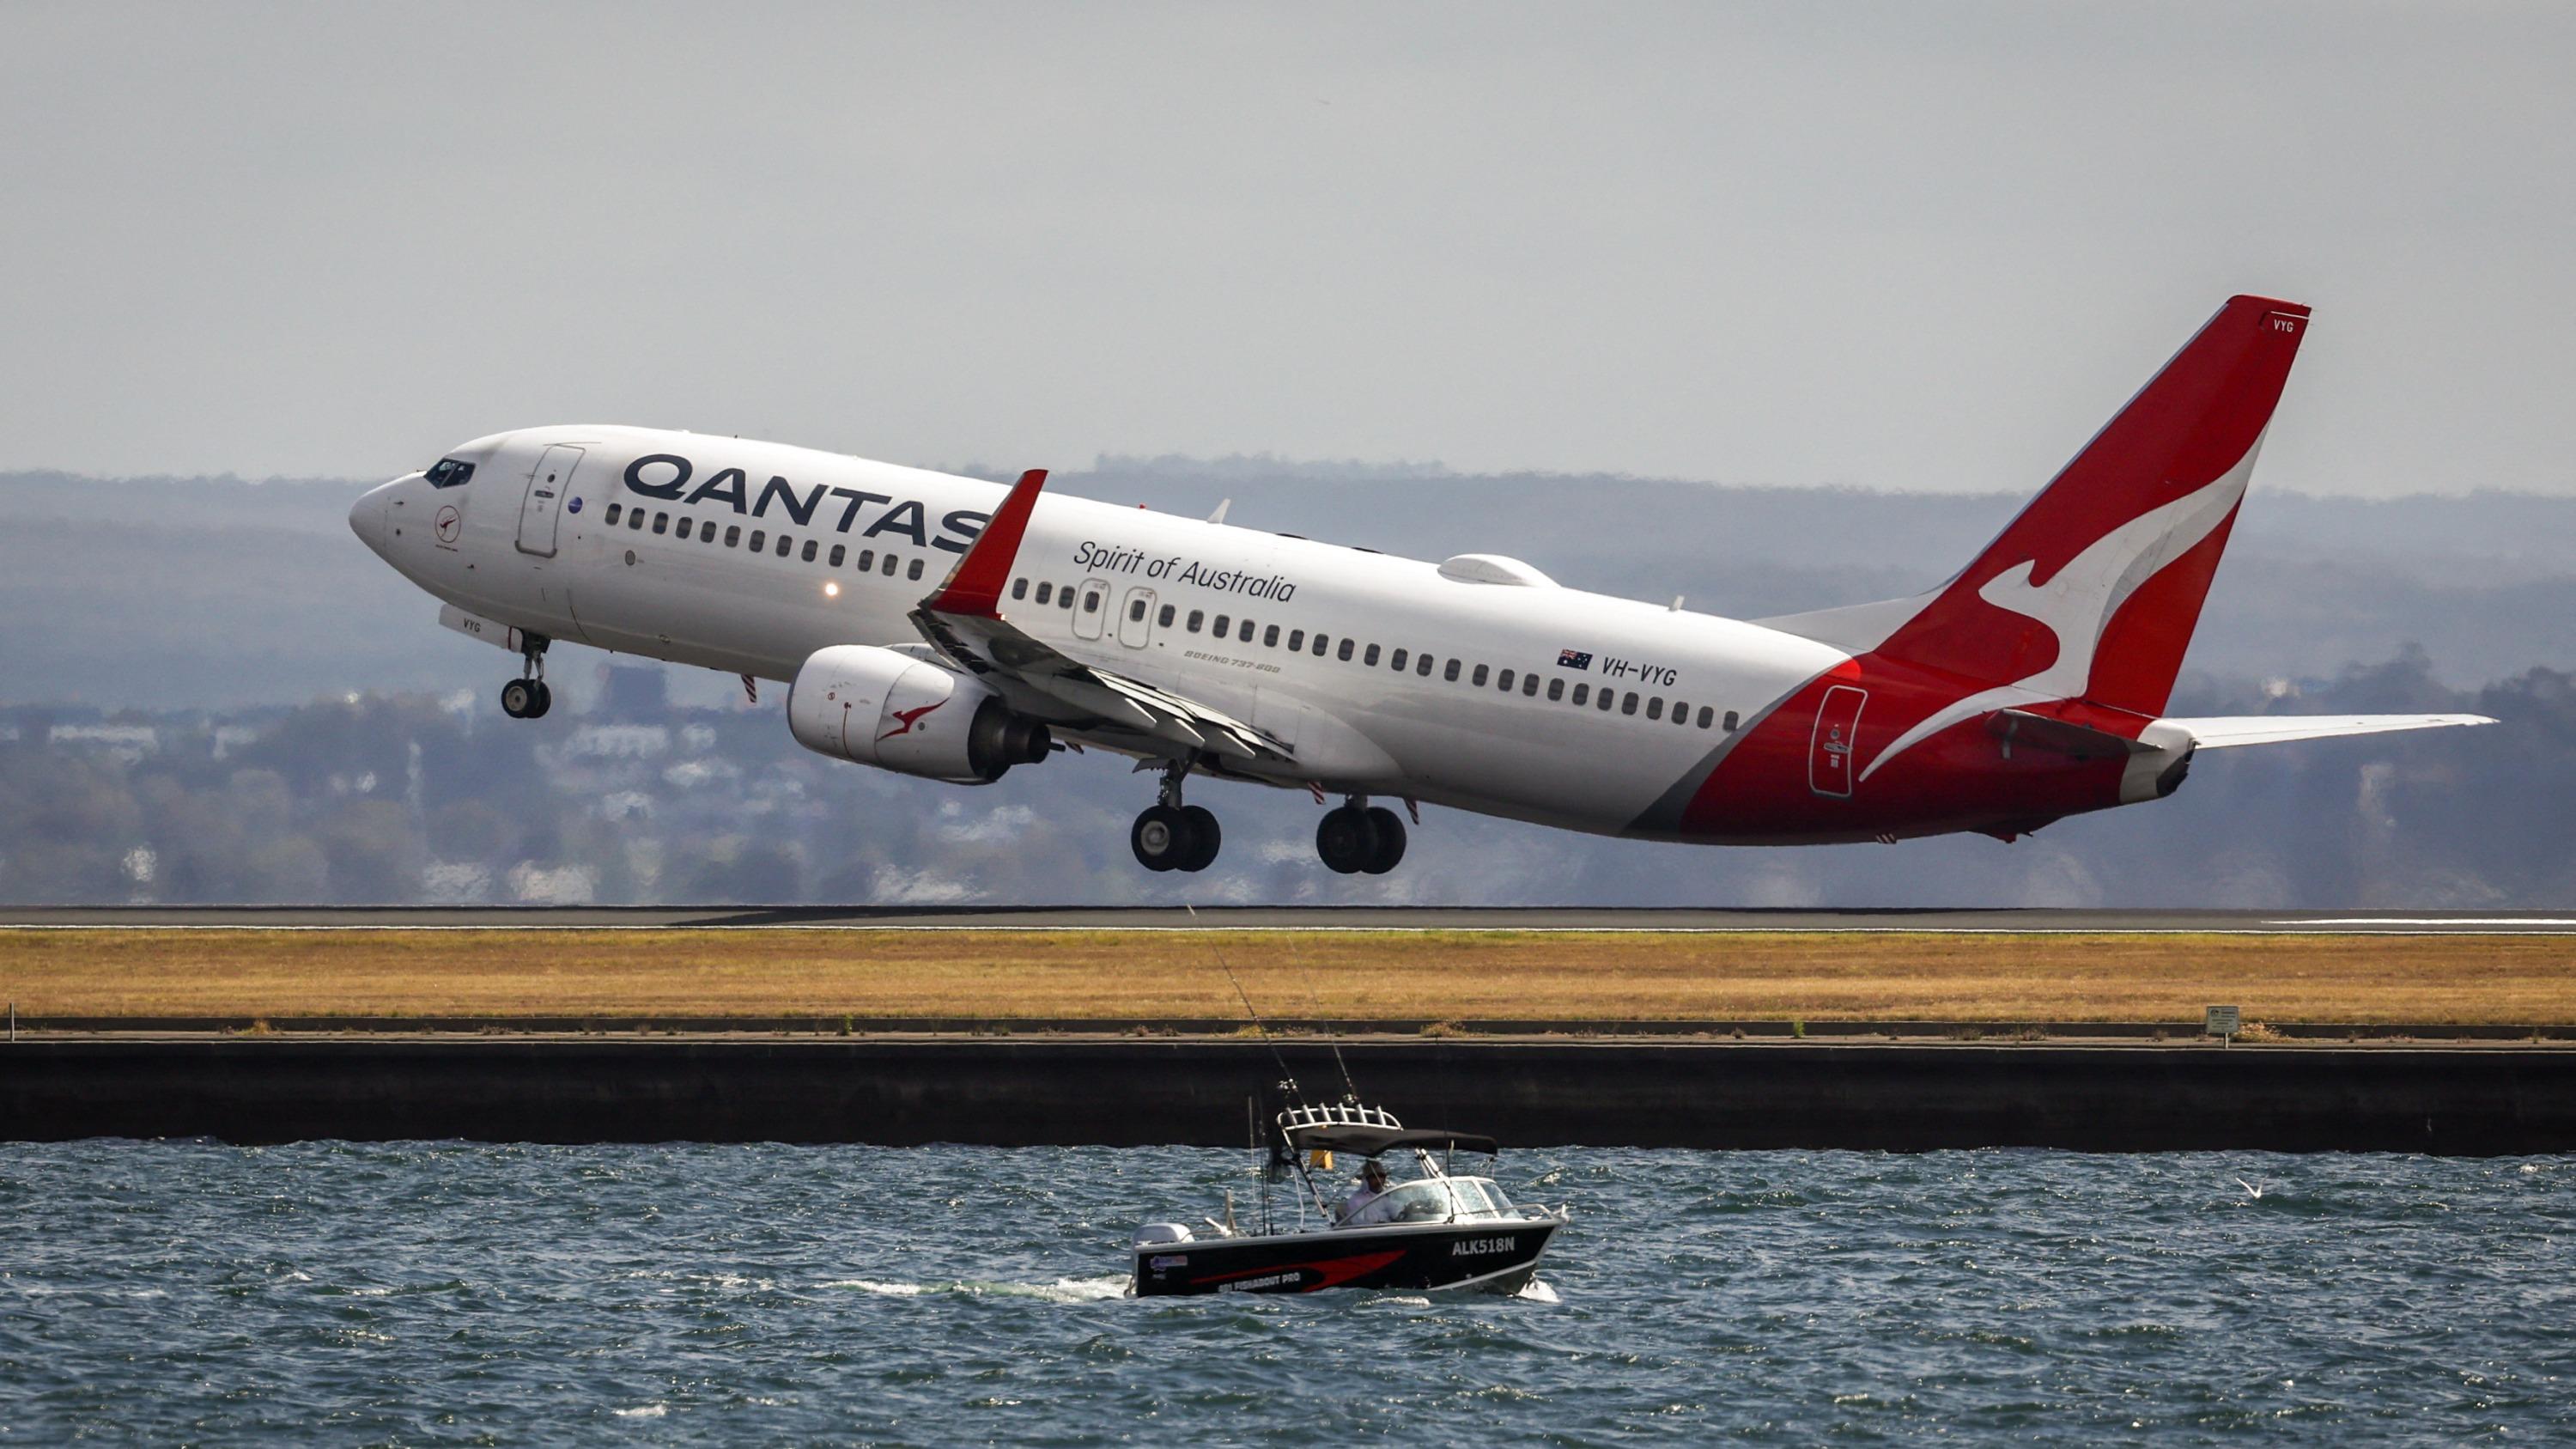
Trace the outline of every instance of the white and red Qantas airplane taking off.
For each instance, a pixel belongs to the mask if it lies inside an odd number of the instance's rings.
[[[366,492],[350,529],[440,621],[788,683],[824,755],[992,784],[1105,750],[1159,771],[1128,846],[1200,871],[1193,779],[1303,789],[1340,874],[1404,859],[1419,804],[1713,846],[2012,841],[2172,794],[2197,750],[2491,724],[2478,714],[2166,717],[2308,333],[2228,299],[1947,583],[1718,619],[783,443],[559,425]],[[1386,802],[1401,802],[1396,815]]]

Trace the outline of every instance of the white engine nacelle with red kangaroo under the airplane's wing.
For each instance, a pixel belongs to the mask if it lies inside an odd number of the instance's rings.
[[[992,784],[1054,748],[981,681],[876,645],[832,645],[788,688],[796,743],[842,761],[951,784]]]

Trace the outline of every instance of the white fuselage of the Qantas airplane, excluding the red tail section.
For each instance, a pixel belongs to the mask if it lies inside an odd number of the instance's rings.
[[[829,645],[920,645],[912,608],[1005,492],[623,425],[500,433],[448,459],[474,464],[466,485],[410,474],[353,513],[425,590],[523,632],[770,681]],[[1273,784],[1597,833],[1631,830],[1734,727],[1850,657],[1510,559],[1443,567],[1056,495],[999,608],[1079,663],[1288,740],[1293,771],[1247,771]]]

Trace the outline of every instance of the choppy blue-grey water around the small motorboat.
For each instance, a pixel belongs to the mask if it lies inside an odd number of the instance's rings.
[[[2576,1436],[2568,1158],[1538,1150],[1551,1292],[1121,1297],[1242,1165],[8,1145],[0,1439]]]

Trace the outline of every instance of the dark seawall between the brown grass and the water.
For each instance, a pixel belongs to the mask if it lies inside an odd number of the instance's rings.
[[[1280,1047],[1340,1096],[1327,1047]],[[1504,1145],[2576,1150],[2576,1052],[1345,1042],[1370,1101]],[[98,1039],[0,1047],[0,1137],[1247,1140],[1247,1039]]]

